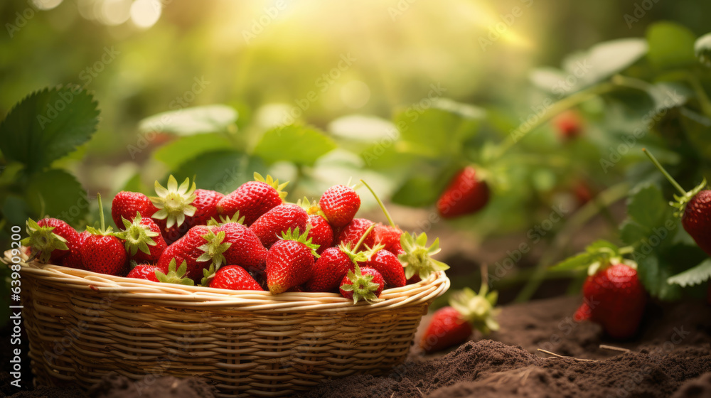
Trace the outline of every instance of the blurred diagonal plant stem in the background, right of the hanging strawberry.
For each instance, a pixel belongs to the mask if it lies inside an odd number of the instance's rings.
[[[541,256],[538,265],[536,266],[533,274],[528,279],[528,283],[523,286],[518,296],[516,296],[516,302],[524,302],[530,300],[531,296],[538,290],[541,282],[545,280],[546,269],[558,255],[562,252],[562,249],[567,246],[567,244],[572,239],[574,232],[578,230],[583,225],[587,224],[589,220],[597,215],[603,208],[608,207],[617,200],[624,198],[629,192],[629,183],[619,183],[612,185],[610,188],[599,193],[599,200],[591,200],[582,208],[579,208],[576,213],[574,213],[570,219],[565,223],[562,230],[555,235],[555,240],[553,240],[550,247],[548,247],[545,253]]]

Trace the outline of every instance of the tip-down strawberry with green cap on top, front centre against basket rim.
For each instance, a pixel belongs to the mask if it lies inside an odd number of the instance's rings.
[[[311,243],[308,235],[308,232],[299,235],[299,228],[283,232],[282,240],[274,243],[267,252],[267,286],[272,294],[282,293],[311,279],[318,247]]]

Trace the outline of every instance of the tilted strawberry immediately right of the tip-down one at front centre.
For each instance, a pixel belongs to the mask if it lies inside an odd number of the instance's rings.
[[[306,291],[335,291],[348,269],[354,269],[356,262],[365,260],[365,253],[355,254],[349,247],[328,247],[316,260],[314,274],[304,287]]]

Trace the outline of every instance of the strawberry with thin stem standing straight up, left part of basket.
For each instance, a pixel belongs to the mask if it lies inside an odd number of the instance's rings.
[[[82,264],[87,271],[99,272],[123,276],[127,273],[127,255],[124,244],[115,237],[112,228],[106,227],[104,222],[104,210],[101,204],[101,195],[97,193],[99,200],[99,218],[101,229],[87,227],[89,235],[80,247]]]

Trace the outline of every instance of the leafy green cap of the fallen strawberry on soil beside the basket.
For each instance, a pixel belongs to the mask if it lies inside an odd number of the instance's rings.
[[[486,283],[482,283],[479,294],[465,288],[451,295],[449,305],[476,330],[483,335],[488,335],[499,328],[496,317],[501,312],[501,308],[495,308],[497,300],[498,292],[489,292]]]

